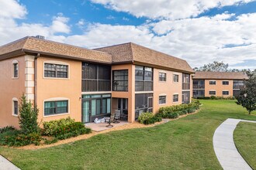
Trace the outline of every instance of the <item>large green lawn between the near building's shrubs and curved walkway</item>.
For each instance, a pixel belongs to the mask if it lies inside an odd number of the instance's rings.
[[[22,169],[221,169],[213,133],[228,117],[256,120],[234,100],[201,100],[198,114],[154,128],[99,134],[68,145],[23,151],[0,147]]]

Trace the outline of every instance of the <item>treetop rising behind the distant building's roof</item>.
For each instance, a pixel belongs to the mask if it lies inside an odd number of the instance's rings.
[[[223,62],[214,61],[213,63],[205,64],[204,66],[200,66],[199,68],[195,67],[195,71],[220,71],[220,72],[227,72],[228,71],[228,64]]]

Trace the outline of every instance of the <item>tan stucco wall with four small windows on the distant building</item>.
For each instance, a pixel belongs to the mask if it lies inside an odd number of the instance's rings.
[[[216,80],[216,85],[210,85],[209,81],[211,80],[205,80],[205,96],[210,97],[212,95],[209,94],[210,90],[216,90],[216,95],[217,97],[222,97],[223,90],[228,90],[229,95],[224,95],[223,97],[229,97],[233,96],[233,80]],[[223,85],[223,81],[229,81],[229,85]]]

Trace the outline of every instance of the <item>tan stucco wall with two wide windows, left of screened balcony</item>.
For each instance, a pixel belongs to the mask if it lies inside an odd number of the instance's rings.
[[[47,61],[67,63],[69,67],[68,79],[43,78],[43,63]],[[81,121],[81,62],[40,56],[36,63],[36,104],[40,110],[38,120],[52,121],[71,117],[75,121]],[[43,101],[60,97],[69,99],[69,113],[43,117]]]

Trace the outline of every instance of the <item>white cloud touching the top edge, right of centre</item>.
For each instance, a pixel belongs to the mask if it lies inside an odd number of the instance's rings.
[[[195,17],[210,8],[238,5],[255,0],[91,0],[118,12],[129,12],[137,17],[150,19],[185,19]]]

